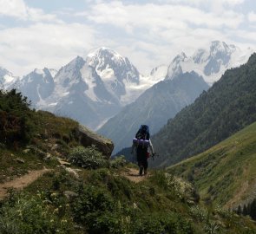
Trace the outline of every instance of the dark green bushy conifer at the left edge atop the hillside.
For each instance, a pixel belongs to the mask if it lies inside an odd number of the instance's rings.
[[[9,92],[0,90],[0,142],[7,146],[17,147],[27,143],[33,132],[31,121],[33,111],[30,103],[16,89]]]

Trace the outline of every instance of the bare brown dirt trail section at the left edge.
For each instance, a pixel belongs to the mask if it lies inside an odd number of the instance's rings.
[[[36,179],[41,177],[45,172],[49,171],[50,169],[44,168],[42,170],[33,171],[19,178],[0,184],[0,200],[6,197],[8,189],[13,188],[15,190],[21,190],[23,187],[30,185]]]

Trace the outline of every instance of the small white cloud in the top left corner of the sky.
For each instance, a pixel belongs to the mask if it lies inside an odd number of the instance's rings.
[[[23,21],[61,23],[55,15],[45,14],[41,9],[30,8],[23,0],[0,0],[0,16],[1,15],[16,17]]]

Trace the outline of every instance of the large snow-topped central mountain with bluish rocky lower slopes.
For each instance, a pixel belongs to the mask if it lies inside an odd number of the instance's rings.
[[[62,67],[52,93],[36,105],[95,129],[141,94],[136,88],[140,77],[128,58],[111,49],[96,49]]]

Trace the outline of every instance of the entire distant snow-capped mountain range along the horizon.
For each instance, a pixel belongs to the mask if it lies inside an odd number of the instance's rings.
[[[35,69],[20,78],[0,68],[0,85],[19,89],[36,109],[71,117],[96,130],[157,82],[194,72],[212,84],[226,68],[246,62],[250,53],[251,49],[241,51],[216,41],[209,49],[199,49],[191,57],[181,53],[169,65],[141,75],[128,58],[112,49],[99,48],[85,59],[77,56],[58,71]]]

